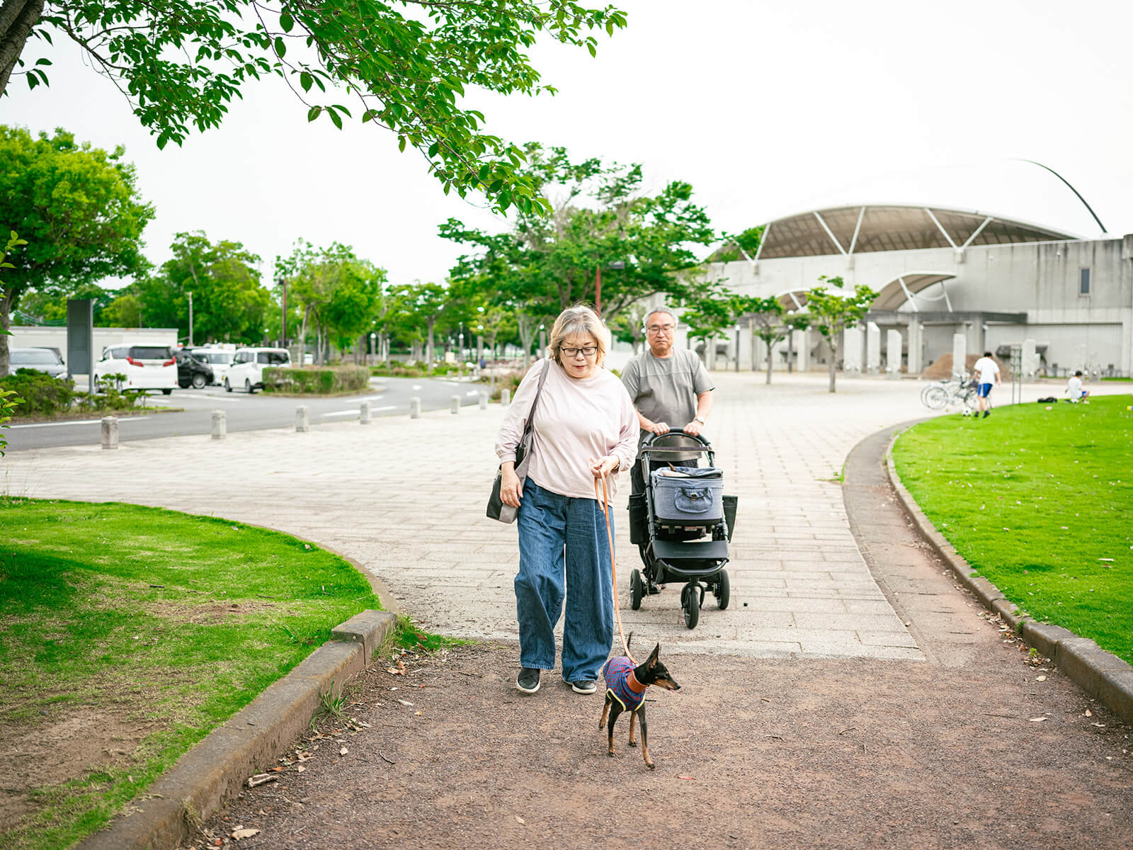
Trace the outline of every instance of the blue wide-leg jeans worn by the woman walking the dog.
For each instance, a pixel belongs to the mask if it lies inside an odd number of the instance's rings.
[[[597,679],[614,643],[613,577],[602,503],[559,495],[528,479],[516,524],[520,665],[554,669],[554,630],[565,598],[563,679]]]

